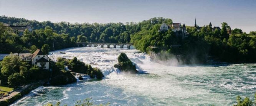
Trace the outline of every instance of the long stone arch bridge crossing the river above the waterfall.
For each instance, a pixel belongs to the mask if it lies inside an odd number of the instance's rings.
[[[130,46],[133,45],[133,43],[107,43],[107,42],[77,42],[76,43],[78,45],[78,47],[87,47],[87,45],[89,47],[92,47],[92,45],[94,47],[97,47],[97,45],[100,45],[102,48],[104,47],[104,45],[107,45],[107,48],[110,48],[110,45],[114,45],[114,48],[116,48],[116,45],[120,45],[120,48],[124,48],[124,45],[127,45],[127,48],[130,49]]]

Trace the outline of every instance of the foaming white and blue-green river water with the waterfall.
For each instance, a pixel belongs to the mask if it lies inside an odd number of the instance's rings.
[[[121,52],[137,64],[137,69],[149,74],[120,73],[113,66]],[[253,99],[256,92],[256,64],[173,66],[177,64],[176,61],[155,63],[148,55],[134,48],[69,48],[51,54],[53,60],[57,57],[77,57],[84,63],[100,68],[105,78],[59,87],[39,87],[13,103],[13,106],[43,105],[57,101],[70,106],[88,97],[92,98],[94,104],[109,102],[111,106],[230,106],[236,102],[237,95]]]

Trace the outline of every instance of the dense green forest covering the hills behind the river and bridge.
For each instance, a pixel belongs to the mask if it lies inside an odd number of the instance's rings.
[[[184,64],[219,62],[256,62],[256,36],[243,33],[222,23],[221,30],[212,31],[211,24],[197,30],[187,26],[188,34],[182,39],[180,32],[171,29],[159,32],[160,25],[172,24],[172,19],[152,18],[142,22],[119,23],[74,23],[50,21],[38,22],[24,18],[0,16],[0,22],[31,26],[32,32],[22,36],[7,33],[8,28],[0,24],[0,53],[20,52],[41,48],[48,44],[50,50],[75,47],[76,42],[132,42],[136,49],[157,54],[160,59],[177,58]],[[180,45],[174,47],[172,45]]]

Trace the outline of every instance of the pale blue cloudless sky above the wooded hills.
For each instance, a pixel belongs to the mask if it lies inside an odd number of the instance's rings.
[[[256,0],[0,0],[0,15],[37,21],[141,22],[154,17],[173,22],[256,31]]]

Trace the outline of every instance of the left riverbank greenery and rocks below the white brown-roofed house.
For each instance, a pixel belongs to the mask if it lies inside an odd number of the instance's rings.
[[[67,65],[69,69],[66,70]],[[13,92],[8,92],[7,97],[1,99],[0,104],[7,106],[31,90],[40,86],[58,86],[71,84],[77,81],[71,72],[88,74],[92,79],[102,79],[104,75],[97,68],[92,68],[89,64],[73,59],[58,58],[55,63],[50,61],[50,70],[32,66],[30,63],[22,61],[18,56],[8,55],[0,61],[0,79],[2,86],[13,87]],[[6,87],[1,87],[6,88]],[[7,93],[6,93],[7,94]]]

